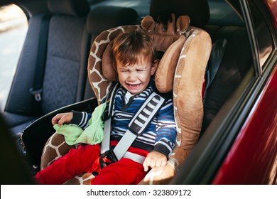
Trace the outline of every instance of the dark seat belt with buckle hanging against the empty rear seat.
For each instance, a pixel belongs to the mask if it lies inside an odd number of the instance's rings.
[[[45,14],[40,23],[40,33],[38,37],[38,53],[36,55],[35,77],[33,78],[33,87],[31,87],[31,89],[29,90],[31,94],[34,95],[37,102],[41,101],[41,92],[43,92],[43,76],[45,70],[50,17],[50,14]]]

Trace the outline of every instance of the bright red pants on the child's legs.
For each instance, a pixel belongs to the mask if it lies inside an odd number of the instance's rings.
[[[148,154],[147,151],[132,147],[128,151],[141,156]],[[121,158],[121,160],[101,169],[99,153],[99,144],[80,145],[77,149],[70,149],[68,154],[39,171],[35,179],[40,184],[58,185],[81,173],[96,171],[99,175],[92,178],[92,184],[124,185],[138,184],[146,176],[143,165],[129,158]]]

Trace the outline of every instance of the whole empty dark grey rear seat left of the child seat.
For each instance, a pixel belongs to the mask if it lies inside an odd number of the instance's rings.
[[[90,47],[85,26],[89,4],[87,0],[80,0],[78,4],[74,0],[48,0],[48,9],[50,13],[30,18],[26,41],[3,113],[13,134],[22,132],[43,114],[79,102],[84,95],[85,77],[80,74],[86,71]],[[41,45],[41,41],[45,45]],[[38,77],[40,72],[36,68],[40,60],[44,70]],[[40,102],[29,91],[34,82],[39,81],[42,82]],[[78,84],[82,90],[78,90]]]

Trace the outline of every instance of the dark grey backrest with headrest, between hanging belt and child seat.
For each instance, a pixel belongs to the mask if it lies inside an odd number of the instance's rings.
[[[43,114],[81,100],[77,94],[82,95],[82,92],[77,90],[77,85],[82,84],[82,71],[87,67],[85,49],[89,36],[85,17],[89,13],[89,5],[85,1],[78,1],[77,7],[72,7],[73,4],[73,0],[48,1],[48,7],[54,14],[48,33]]]

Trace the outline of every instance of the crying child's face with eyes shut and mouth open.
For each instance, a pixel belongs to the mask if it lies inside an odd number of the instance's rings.
[[[148,59],[143,59],[134,65],[124,65],[116,60],[116,69],[119,74],[120,84],[128,90],[131,95],[137,95],[146,89],[150,82],[151,75],[154,75],[157,62],[151,63]]]

